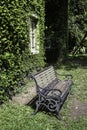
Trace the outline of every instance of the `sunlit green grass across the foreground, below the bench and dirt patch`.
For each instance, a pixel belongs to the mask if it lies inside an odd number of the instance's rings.
[[[0,108],[0,130],[86,130],[86,117],[58,121],[54,116],[39,112],[33,116],[27,106],[7,103]]]

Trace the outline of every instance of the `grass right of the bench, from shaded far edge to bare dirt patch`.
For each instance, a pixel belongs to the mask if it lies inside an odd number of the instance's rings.
[[[72,93],[77,99],[87,102],[87,55],[69,57],[68,62],[59,66],[57,72],[61,74],[72,74],[74,81]]]

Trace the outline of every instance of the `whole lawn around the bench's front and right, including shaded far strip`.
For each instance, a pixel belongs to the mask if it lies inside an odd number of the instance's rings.
[[[63,105],[59,121],[45,111],[31,115],[30,106],[7,102],[0,106],[0,130],[86,130],[87,129],[87,56],[69,57],[56,65],[58,73],[73,75],[74,85]]]

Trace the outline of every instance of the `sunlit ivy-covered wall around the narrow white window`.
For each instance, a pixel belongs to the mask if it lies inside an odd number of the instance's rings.
[[[44,66],[44,0],[0,1],[0,103],[21,87],[23,78]],[[38,16],[39,54],[29,49],[29,17]]]

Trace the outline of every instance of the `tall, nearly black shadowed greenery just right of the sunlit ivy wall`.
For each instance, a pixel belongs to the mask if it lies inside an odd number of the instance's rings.
[[[46,0],[45,47],[48,61],[65,57],[68,30],[68,0]]]

